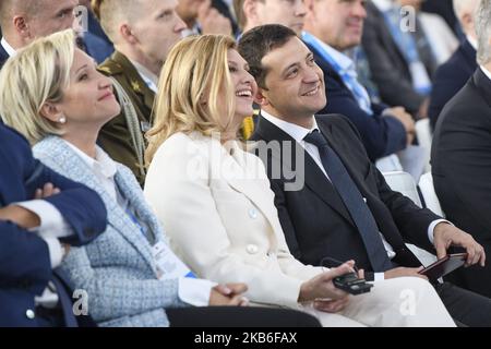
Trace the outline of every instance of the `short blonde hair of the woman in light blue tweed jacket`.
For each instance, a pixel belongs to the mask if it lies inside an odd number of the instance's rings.
[[[70,84],[75,52],[72,29],[39,38],[10,58],[0,72],[0,115],[32,145],[48,134],[61,135],[55,122],[40,116],[47,100],[60,101]]]

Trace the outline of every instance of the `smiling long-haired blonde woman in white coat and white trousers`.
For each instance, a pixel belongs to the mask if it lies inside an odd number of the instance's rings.
[[[144,193],[173,251],[201,277],[242,280],[254,303],[301,309],[325,326],[454,325],[422,279],[375,282],[350,298],[332,279],[352,261],[326,270],[289,253],[263,164],[237,140],[256,85],[232,39],[182,40],[159,81]]]

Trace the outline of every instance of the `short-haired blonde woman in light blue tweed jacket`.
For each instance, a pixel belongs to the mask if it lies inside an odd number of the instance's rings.
[[[106,231],[72,248],[60,266],[73,288],[86,292],[88,314],[99,326],[319,324],[298,312],[233,306],[247,305],[246,285],[196,279],[171,253],[133,173],[96,144],[120,106],[111,81],[75,47],[71,31],[40,38],[7,62],[0,111],[35,144],[38,159],[93,189],[106,205]]]

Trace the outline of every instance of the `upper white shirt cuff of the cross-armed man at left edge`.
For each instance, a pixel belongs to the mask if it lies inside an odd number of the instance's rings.
[[[35,213],[40,219],[40,226],[36,228],[40,237],[64,238],[73,234],[70,225],[61,216],[60,212],[44,200],[32,200],[15,205]]]

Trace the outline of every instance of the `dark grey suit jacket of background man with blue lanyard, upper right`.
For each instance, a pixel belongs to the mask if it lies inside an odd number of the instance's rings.
[[[424,97],[412,88],[406,59],[385,25],[384,15],[370,1],[367,2],[362,46],[382,100],[416,115]]]

